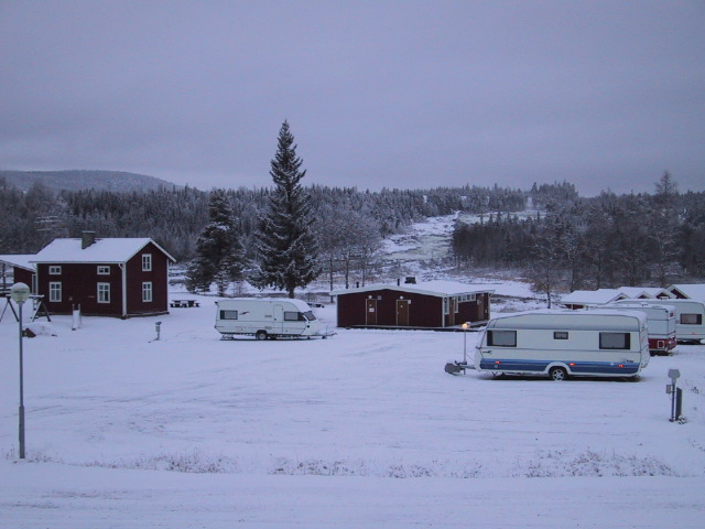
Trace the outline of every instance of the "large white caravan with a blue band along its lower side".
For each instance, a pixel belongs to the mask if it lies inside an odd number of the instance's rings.
[[[649,358],[643,313],[543,310],[490,320],[478,337],[475,369],[553,380],[638,377]]]

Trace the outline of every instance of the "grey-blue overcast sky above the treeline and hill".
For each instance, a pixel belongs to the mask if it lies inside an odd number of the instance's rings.
[[[705,0],[0,0],[0,169],[705,190]]]

